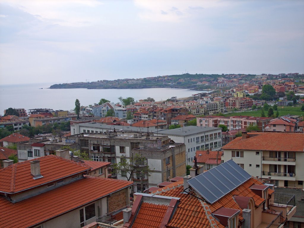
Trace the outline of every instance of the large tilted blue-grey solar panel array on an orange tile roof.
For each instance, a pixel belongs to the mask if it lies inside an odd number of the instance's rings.
[[[250,178],[250,174],[229,160],[187,182],[202,198],[212,204]]]

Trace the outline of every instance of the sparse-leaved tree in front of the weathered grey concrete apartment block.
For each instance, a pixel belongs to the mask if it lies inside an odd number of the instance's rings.
[[[112,164],[112,173],[127,178],[130,181],[137,174],[137,177],[141,174],[148,174],[150,176],[150,170],[147,159],[141,157],[140,154],[134,153],[130,157],[130,162],[126,159],[120,159],[119,163]],[[139,179],[137,178],[136,179]]]

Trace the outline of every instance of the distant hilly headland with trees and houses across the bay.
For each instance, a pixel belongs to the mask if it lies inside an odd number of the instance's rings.
[[[292,77],[303,78],[303,74],[180,74],[149,78],[125,78],[117,80],[98,80],[92,82],[73,82],[51,85],[50,89],[130,89],[130,88],[187,88],[194,90],[226,89],[240,83],[259,83],[261,80]]]

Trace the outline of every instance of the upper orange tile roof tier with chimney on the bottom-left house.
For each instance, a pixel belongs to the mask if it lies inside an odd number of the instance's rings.
[[[43,178],[33,179],[30,161],[40,160]],[[90,167],[55,155],[12,164],[0,170],[0,192],[16,193],[67,176],[85,172]]]

